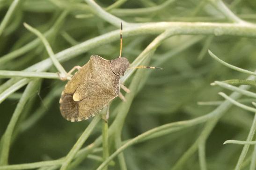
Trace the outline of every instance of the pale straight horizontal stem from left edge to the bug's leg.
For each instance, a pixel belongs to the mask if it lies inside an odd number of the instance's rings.
[[[25,72],[25,71],[7,71],[0,70],[0,77],[27,77],[27,78],[44,78],[44,79],[60,79],[57,73],[47,72]]]

